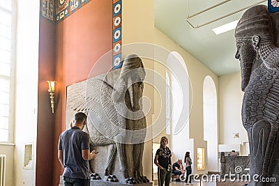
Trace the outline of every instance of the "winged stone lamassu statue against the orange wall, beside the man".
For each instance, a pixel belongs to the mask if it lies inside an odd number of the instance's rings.
[[[122,178],[130,178],[134,184],[149,182],[142,174],[146,137],[146,118],[142,111],[145,75],[142,60],[132,54],[123,61],[121,70],[88,79],[68,94],[71,109],[88,111],[93,146],[109,146],[107,160],[98,165],[105,166],[104,175],[120,171]],[[114,171],[116,155],[120,170]]]

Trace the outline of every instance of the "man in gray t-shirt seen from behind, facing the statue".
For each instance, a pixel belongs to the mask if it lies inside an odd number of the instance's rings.
[[[62,132],[59,137],[58,159],[64,168],[65,186],[89,186],[89,160],[96,157],[90,153],[89,134],[82,129],[86,125],[86,114],[77,112],[73,127]]]

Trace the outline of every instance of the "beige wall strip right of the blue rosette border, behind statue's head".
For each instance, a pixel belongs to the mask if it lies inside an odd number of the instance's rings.
[[[128,54],[137,54],[142,57],[144,68],[146,70],[145,81],[149,84],[144,84],[144,101],[149,100],[151,108],[146,114],[147,127],[152,123],[153,118],[153,95],[154,91],[150,84],[153,84],[153,51],[147,49],[137,42],[153,43],[153,27],[154,27],[154,8],[153,1],[141,0],[141,1],[122,1],[122,58],[128,56]],[[144,10],[144,13],[143,13]],[[143,31],[144,29],[144,31]],[[149,45],[150,46],[150,45]],[[151,59],[144,58],[144,56],[150,56]],[[146,144],[144,145],[144,164],[143,173],[149,180],[152,180],[152,141],[150,139],[151,130],[147,131]]]

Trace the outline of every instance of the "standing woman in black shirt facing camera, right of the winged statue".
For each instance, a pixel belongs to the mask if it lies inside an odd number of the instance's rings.
[[[156,151],[154,164],[158,166],[158,185],[169,186],[170,178],[172,177],[172,152],[167,147],[167,137],[161,137],[160,148]]]

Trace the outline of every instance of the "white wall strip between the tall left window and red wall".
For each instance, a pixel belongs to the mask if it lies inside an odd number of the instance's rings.
[[[23,169],[24,145],[36,152],[38,109],[38,33],[40,1],[17,0],[15,90],[15,185],[35,185],[33,169]],[[34,156],[36,158],[36,156]]]

